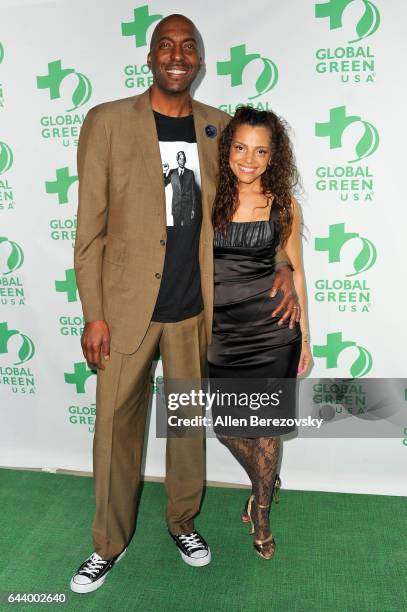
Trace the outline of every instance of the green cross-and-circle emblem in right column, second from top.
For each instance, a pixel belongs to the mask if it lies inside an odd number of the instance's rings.
[[[370,157],[379,146],[379,133],[375,126],[362,119],[360,115],[348,115],[345,106],[336,106],[329,110],[329,121],[315,124],[315,136],[327,138],[330,149],[342,148],[342,138],[349,126],[358,123],[363,127],[363,134],[355,142],[353,159],[348,163],[354,164]]]

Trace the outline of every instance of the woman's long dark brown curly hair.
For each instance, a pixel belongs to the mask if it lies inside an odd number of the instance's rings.
[[[261,175],[261,186],[265,195],[274,196],[273,206],[278,208],[281,244],[287,242],[291,233],[293,210],[292,194],[299,182],[294,153],[284,119],[272,111],[258,111],[251,106],[241,106],[222,132],[219,140],[219,178],[216,190],[213,225],[221,232],[233,218],[239,206],[237,178],[229,165],[229,154],[236,129],[240,125],[266,127],[270,132],[271,160]]]

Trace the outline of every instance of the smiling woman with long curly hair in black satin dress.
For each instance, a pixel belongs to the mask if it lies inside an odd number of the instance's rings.
[[[213,341],[208,351],[211,388],[244,391],[250,380],[257,390],[270,390],[273,379],[295,379],[311,362],[301,215],[292,195],[298,177],[284,122],[272,112],[238,109],[222,134],[219,164],[213,212]],[[272,295],[270,288],[280,247],[293,267],[299,323],[291,319],[281,324],[274,314],[281,298]],[[249,386],[252,391],[253,385]],[[295,388],[291,390],[294,407]],[[214,423],[222,409],[212,407]],[[244,411],[247,407],[228,407],[232,416]],[[268,514],[273,489],[279,484],[276,470],[282,430],[260,427],[242,433],[224,424],[214,429],[251,480],[252,494],[242,520],[251,522],[256,552],[271,559],[275,540]]]

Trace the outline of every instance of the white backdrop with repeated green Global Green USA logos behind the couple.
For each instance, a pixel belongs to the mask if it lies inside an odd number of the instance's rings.
[[[170,13],[193,19],[205,43],[197,99],[231,114],[242,103],[273,109],[291,126],[312,375],[406,371],[405,2],[2,0],[0,465],[91,470],[76,147],[89,108],[151,84],[151,33]],[[164,446],[153,415],[147,475],[164,474]],[[406,493],[402,428],[398,439],[293,438],[283,454],[287,487]],[[215,439],[207,462],[209,480],[247,482]]]

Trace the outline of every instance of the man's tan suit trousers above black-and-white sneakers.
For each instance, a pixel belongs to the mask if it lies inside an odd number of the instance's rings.
[[[176,323],[151,322],[139,349],[111,350],[97,374],[93,469],[95,551],[102,559],[119,554],[132,537],[141,476],[150,376],[157,346],[164,378],[199,379],[206,363],[203,312]],[[174,534],[190,533],[203,487],[202,436],[167,439],[166,519]]]

